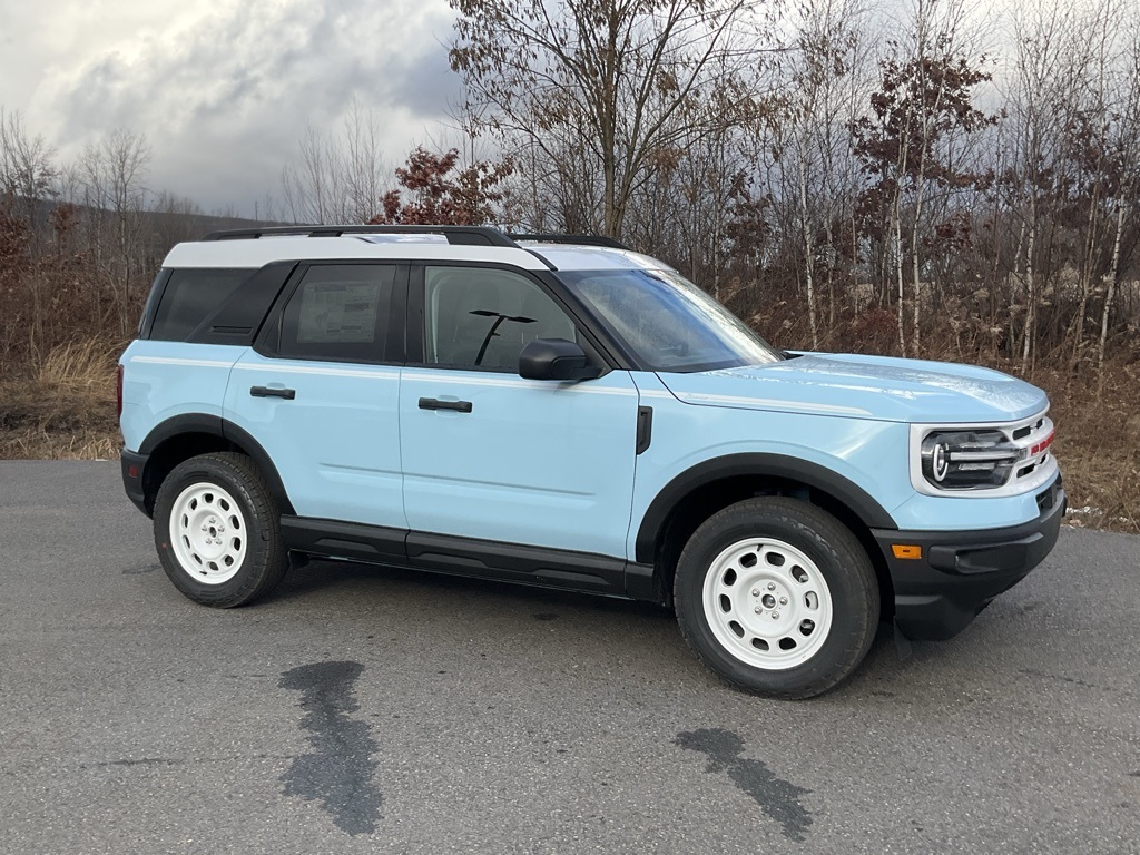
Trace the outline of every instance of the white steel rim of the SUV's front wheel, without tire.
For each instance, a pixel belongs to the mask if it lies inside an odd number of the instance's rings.
[[[724,650],[754,668],[809,660],[831,630],[831,592],[804,552],[772,538],[739,540],[705,577],[705,619]]]

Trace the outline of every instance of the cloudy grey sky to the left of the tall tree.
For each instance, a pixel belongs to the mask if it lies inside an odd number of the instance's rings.
[[[439,139],[450,27],[446,0],[0,0],[0,106],[60,160],[142,132],[153,188],[252,215],[353,97],[393,164]]]

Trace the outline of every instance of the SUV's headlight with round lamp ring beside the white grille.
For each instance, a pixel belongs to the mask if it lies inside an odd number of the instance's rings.
[[[1025,454],[1001,431],[937,431],[922,440],[922,475],[939,490],[1001,487]]]

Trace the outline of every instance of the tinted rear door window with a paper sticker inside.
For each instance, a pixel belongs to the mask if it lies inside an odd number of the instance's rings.
[[[382,361],[394,283],[390,264],[310,267],[285,307],[279,355]]]

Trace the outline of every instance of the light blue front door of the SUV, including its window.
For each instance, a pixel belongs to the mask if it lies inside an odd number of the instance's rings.
[[[400,383],[409,528],[624,559],[638,402],[629,373],[520,377],[527,342],[580,341],[521,272],[427,267],[422,298],[412,323],[423,324],[424,361]]]

